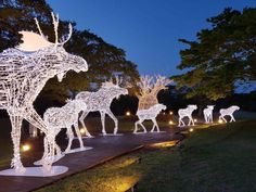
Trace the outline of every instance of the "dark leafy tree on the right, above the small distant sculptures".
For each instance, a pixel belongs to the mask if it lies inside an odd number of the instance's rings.
[[[233,93],[238,82],[256,79],[256,9],[242,12],[225,9],[207,18],[210,29],[202,29],[195,41],[179,39],[189,46],[181,50],[177,88],[188,88],[188,98],[218,100]]]

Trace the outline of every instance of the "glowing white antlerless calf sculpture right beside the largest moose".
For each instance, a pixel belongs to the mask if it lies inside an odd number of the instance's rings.
[[[72,142],[74,140],[74,133],[72,130],[72,126],[75,127],[76,135],[78,137],[80,149],[84,149],[84,142],[81,140],[81,135],[78,127],[78,115],[79,112],[85,110],[86,103],[81,100],[68,100],[67,103],[62,107],[51,107],[46,111],[43,114],[43,120],[47,125],[48,135],[44,139],[52,139],[51,143],[55,142],[55,137],[61,131],[61,129],[66,128],[66,133],[68,137],[68,144],[65,150],[65,153],[71,152]],[[52,156],[61,156],[61,150],[59,146],[56,146],[56,154],[54,151],[52,151]]]

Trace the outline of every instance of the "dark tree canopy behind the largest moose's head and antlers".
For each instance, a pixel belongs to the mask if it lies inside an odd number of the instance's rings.
[[[51,12],[52,9],[44,0],[3,0],[0,4],[0,52],[21,41],[20,30],[38,31],[35,17],[43,34],[50,41],[54,41]],[[60,20],[60,37],[68,31],[68,23]],[[72,24],[76,25],[74,22]],[[139,79],[137,65],[126,59],[124,50],[105,42],[89,30],[74,28],[71,40],[64,47],[67,52],[86,59],[89,71],[79,74],[69,72],[61,84],[56,78],[50,79],[43,88],[43,95],[65,100],[76,91],[98,88],[114,75],[123,76],[129,81]]]

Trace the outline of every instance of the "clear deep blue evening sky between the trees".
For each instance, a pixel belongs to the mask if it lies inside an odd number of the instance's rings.
[[[121,48],[140,74],[176,75],[182,72],[179,38],[194,40],[209,25],[206,18],[225,8],[242,10],[256,0],[47,0],[62,20],[90,29]]]

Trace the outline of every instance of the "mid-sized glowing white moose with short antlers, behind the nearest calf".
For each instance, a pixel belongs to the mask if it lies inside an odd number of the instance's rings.
[[[82,91],[76,95],[76,99],[82,100],[87,107],[84,108],[84,112],[79,118],[84,129],[86,130],[86,136],[92,137],[86,125],[84,123],[86,116],[90,112],[100,112],[101,114],[101,123],[102,123],[102,133],[106,136],[105,131],[105,115],[107,114],[115,123],[114,135],[117,135],[118,130],[118,120],[115,115],[111,111],[111,103],[114,99],[118,99],[121,94],[128,94],[128,90],[126,88],[119,87],[121,79],[116,77],[116,84],[111,79],[110,81],[105,81],[102,84],[102,87],[97,92]]]

